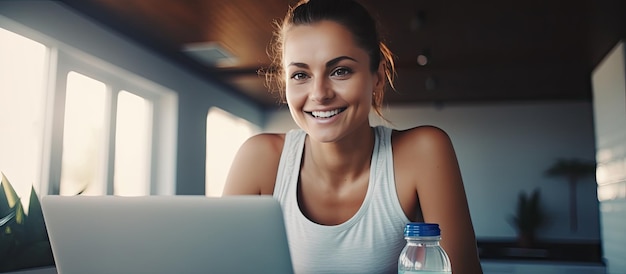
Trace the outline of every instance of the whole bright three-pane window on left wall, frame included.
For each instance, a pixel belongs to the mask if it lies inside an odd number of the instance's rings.
[[[175,194],[175,92],[1,17],[0,27],[0,172],[22,201],[31,188]]]

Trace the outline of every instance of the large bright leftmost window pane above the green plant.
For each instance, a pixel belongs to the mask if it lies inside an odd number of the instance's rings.
[[[28,210],[41,181],[47,48],[2,28],[0,41],[0,172]]]

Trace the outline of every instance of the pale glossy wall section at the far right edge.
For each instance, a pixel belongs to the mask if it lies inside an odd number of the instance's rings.
[[[620,42],[594,70],[598,197],[607,273],[626,273],[626,54]]]

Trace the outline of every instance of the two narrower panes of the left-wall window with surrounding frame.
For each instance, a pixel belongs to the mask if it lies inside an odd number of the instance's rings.
[[[59,74],[67,73],[59,77],[65,83],[59,194],[173,194],[175,95],[93,64],[59,53]]]

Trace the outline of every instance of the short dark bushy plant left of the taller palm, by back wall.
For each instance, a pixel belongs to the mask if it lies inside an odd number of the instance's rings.
[[[509,222],[517,230],[520,247],[531,248],[535,245],[536,231],[546,222],[539,189],[534,189],[530,195],[524,191],[519,193],[515,214],[509,218]]]

